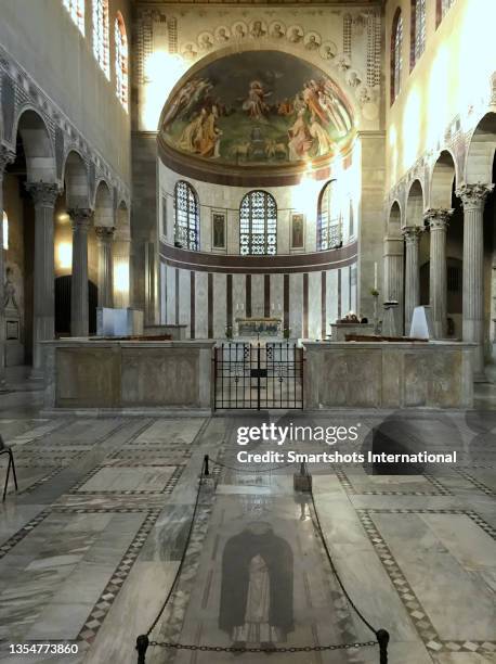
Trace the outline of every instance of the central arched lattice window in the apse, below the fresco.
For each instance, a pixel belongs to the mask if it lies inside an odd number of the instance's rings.
[[[277,205],[266,191],[250,191],[239,206],[242,256],[277,253]]]

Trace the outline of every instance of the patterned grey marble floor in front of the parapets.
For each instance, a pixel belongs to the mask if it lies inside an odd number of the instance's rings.
[[[360,423],[358,440],[338,447],[348,454],[368,449],[384,426],[408,450],[457,451],[456,465],[423,464],[415,474],[315,464],[315,505],[350,597],[375,628],[390,631],[390,664],[496,662],[494,385],[478,387],[469,412],[49,419],[39,414],[36,384],[23,376],[11,384],[0,395],[0,433],[13,446],[19,490],[11,486],[0,508],[0,662],[136,662],[135,638],[154,623],[178,571],[206,454],[219,464],[199,493],[180,580],[151,639],[286,648],[369,641],[329,566],[311,502],[293,491],[295,467],[242,467],[236,459],[237,427],[262,422]],[[291,449],[329,450],[303,442]],[[240,608],[251,602],[256,613],[267,592],[271,634],[235,629]],[[78,652],[10,652],[11,644],[47,642]],[[267,657],[379,662],[377,647],[267,655],[160,646],[148,649],[146,662]]]

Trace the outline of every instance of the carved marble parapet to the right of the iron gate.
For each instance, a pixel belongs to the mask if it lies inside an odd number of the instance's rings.
[[[304,342],[305,409],[471,408],[474,344]]]

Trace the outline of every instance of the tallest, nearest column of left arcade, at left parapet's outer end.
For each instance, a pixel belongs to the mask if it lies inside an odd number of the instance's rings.
[[[61,193],[54,182],[28,182],[35,204],[35,271],[32,303],[32,375],[43,374],[42,341],[55,334],[55,265],[53,208]]]

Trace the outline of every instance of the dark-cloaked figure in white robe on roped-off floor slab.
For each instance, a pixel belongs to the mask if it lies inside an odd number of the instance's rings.
[[[226,542],[219,627],[235,647],[285,642],[295,629],[292,595],[292,551],[269,523],[249,523]]]

